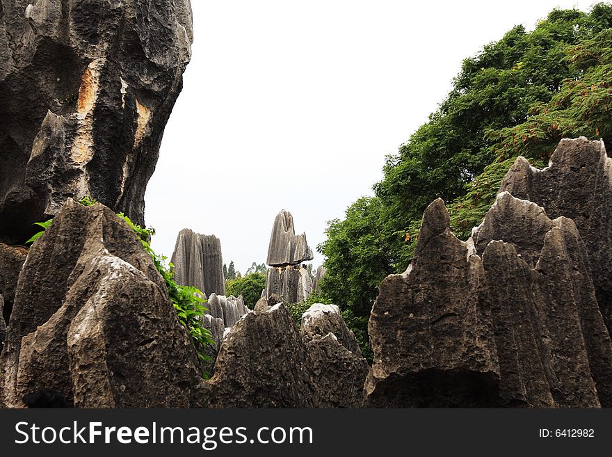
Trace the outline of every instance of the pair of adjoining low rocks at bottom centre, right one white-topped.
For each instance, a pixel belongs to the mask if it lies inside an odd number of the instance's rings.
[[[337,307],[313,305],[296,330],[283,303],[257,302],[220,345],[214,376],[195,390],[205,408],[356,408],[368,366]]]

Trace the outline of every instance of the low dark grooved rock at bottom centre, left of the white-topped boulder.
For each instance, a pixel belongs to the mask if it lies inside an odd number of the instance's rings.
[[[247,314],[220,347],[215,374],[202,382],[202,408],[311,408],[314,390],[304,344],[287,307]]]

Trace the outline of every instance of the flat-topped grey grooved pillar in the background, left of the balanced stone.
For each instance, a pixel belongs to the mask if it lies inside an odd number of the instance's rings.
[[[172,253],[172,264],[178,284],[196,287],[207,296],[225,295],[221,242],[216,236],[181,230]]]

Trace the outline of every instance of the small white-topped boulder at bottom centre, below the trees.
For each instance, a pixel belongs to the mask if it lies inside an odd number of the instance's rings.
[[[302,315],[300,333],[317,408],[361,408],[368,362],[336,305],[315,303]]]

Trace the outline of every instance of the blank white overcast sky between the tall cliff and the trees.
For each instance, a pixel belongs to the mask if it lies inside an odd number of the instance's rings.
[[[593,3],[191,0],[193,56],[145,198],[153,248],[170,257],[184,227],[215,234],[244,273],[287,209],[314,250],[326,221],[372,195],[463,58]]]

